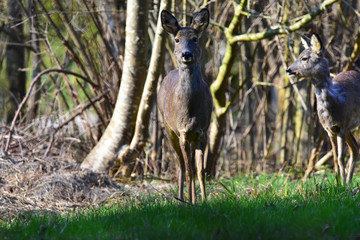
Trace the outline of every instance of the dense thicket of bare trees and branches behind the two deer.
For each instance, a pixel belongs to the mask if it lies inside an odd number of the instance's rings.
[[[311,32],[332,73],[359,70],[358,0],[0,0],[1,158],[175,177],[155,96],[176,62],[158,16],[168,9],[189,25],[202,7],[211,18],[202,69],[214,99],[207,174],[300,177],[331,166],[310,81],[285,70]]]

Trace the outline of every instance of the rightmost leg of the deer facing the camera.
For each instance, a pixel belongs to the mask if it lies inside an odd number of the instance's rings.
[[[203,135],[201,142],[198,144],[198,146],[195,150],[197,176],[198,176],[199,183],[200,183],[202,201],[206,200],[205,169],[204,169],[204,150],[205,150],[206,142],[207,142],[206,135]]]

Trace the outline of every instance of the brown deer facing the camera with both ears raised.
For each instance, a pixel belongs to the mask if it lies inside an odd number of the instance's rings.
[[[184,199],[186,175],[188,201],[195,204],[195,161],[202,201],[206,200],[204,150],[213,108],[212,95],[200,69],[199,38],[209,25],[209,11],[200,10],[190,26],[181,27],[170,12],[163,10],[161,23],[174,39],[178,69],[162,80],[157,104],[167,139],[177,155],[178,198]]]

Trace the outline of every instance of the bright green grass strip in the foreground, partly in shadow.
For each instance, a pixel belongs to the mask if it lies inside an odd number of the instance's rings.
[[[306,183],[285,176],[208,184],[196,206],[159,195],[63,214],[19,214],[1,239],[357,239],[360,196],[331,176]]]

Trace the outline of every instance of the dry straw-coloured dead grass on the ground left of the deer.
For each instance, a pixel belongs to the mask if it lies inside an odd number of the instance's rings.
[[[21,211],[61,212],[111,204],[173,183],[117,183],[107,174],[81,169],[80,163],[60,157],[0,156],[0,220]],[[159,185],[160,184],[160,185]]]

